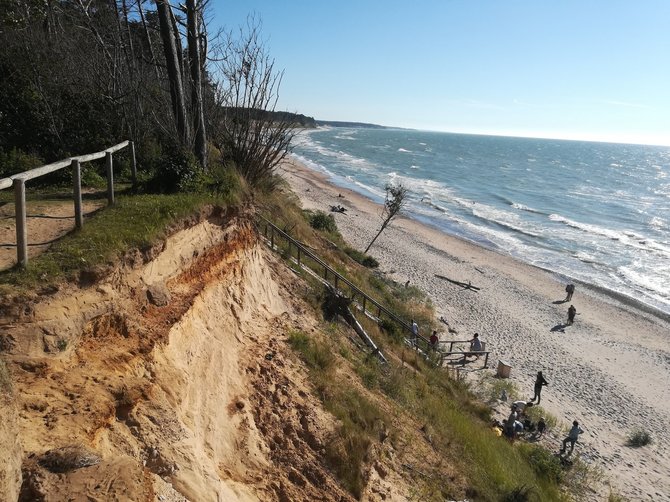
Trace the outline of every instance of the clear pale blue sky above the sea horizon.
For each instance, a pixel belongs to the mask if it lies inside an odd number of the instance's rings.
[[[670,145],[670,0],[212,0],[253,14],[278,110],[421,130]]]

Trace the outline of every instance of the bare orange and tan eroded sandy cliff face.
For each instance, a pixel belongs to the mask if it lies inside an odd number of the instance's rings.
[[[93,287],[0,305],[18,408],[0,446],[20,439],[21,500],[351,500],[324,465],[333,419],[285,342],[316,325],[296,278],[234,218],[149,255]],[[54,457],[95,461],[60,473]],[[19,461],[3,459],[0,486],[18,489]]]

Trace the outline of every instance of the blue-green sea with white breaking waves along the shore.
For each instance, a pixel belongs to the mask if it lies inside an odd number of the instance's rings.
[[[317,128],[293,155],[439,230],[670,314],[670,147]]]

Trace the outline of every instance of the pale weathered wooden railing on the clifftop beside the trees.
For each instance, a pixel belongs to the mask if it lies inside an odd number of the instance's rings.
[[[9,178],[0,179],[0,190],[14,187],[14,204],[16,218],[16,260],[20,266],[25,267],[28,264],[28,230],[26,224],[26,182],[46,174],[59,171],[63,168],[72,166],[72,179],[74,189],[74,219],[77,228],[84,226],[84,213],[81,203],[81,164],[105,158],[107,171],[107,202],[108,205],[114,204],[114,162],[112,155],[119,150],[130,146],[131,170],[133,184],[137,179],[137,164],[135,160],[135,144],[132,141],[124,141],[114,145],[101,152],[89,153],[78,157],[59,160],[52,164],[24,171]]]

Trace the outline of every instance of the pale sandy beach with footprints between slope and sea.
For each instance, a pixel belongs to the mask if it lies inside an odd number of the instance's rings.
[[[347,208],[331,214],[344,238],[365,249],[379,229],[381,206],[293,160],[279,173],[305,209]],[[430,295],[437,317],[457,330],[450,334],[444,326],[441,339],[480,333],[491,351],[486,371],[493,374],[498,360],[510,364],[511,380],[524,398],[532,397],[535,375],[543,371],[549,386],[542,406],[564,426],[580,422],[585,432],[575,454],[601,468],[615,493],[670,500],[668,316],[582,283],[575,283],[572,301],[564,303],[565,278],[405,217],[393,221],[369,254],[389,277]],[[435,274],[481,289],[463,289]],[[565,326],[570,304],[577,317]],[[477,373],[473,381],[482,372]],[[626,446],[633,429],[648,431],[653,443]],[[558,451],[555,441],[547,447]],[[593,500],[606,500],[607,494],[601,488]]]

